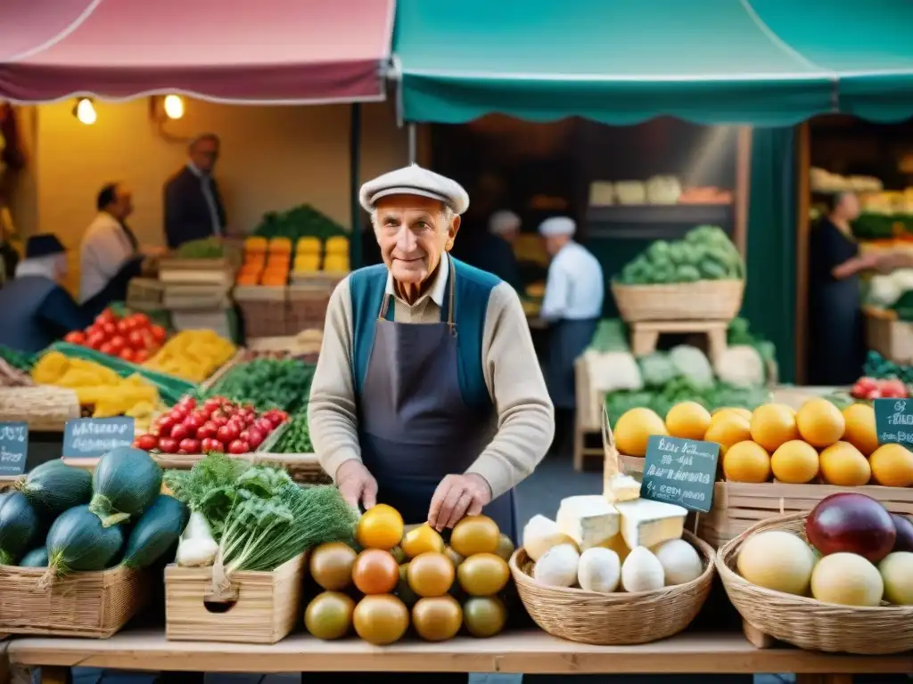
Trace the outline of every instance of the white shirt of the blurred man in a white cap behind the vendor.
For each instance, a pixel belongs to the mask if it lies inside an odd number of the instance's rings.
[[[599,260],[581,244],[570,242],[551,260],[540,317],[547,321],[598,318],[604,296]]]

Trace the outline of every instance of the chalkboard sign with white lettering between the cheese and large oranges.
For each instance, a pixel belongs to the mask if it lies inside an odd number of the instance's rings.
[[[646,444],[640,495],[653,501],[676,503],[690,511],[709,513],[713,506],[717,461],[719,444],[716,442],[654,435]]]

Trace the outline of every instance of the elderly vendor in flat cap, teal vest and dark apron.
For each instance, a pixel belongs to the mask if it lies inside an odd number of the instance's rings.
[[[448,254],[467,192],[417,165],[362,186],[383,264],[337,286],[310,391],[323,469],[352,504],[451,528],[485,513],[517,539],[513,488],[553,409],[519,296]]]

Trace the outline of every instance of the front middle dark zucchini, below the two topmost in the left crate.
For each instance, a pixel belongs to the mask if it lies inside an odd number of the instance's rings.
[[[103,570],[122,545],[123,532],[118,525],[105,527],[89,506],[75,506],[61,513],[47,533],[48,575]]]

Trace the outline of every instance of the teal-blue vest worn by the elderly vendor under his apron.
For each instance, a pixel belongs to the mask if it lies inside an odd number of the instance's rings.
[[[456,308],[456,345],[458,349],[459,386],[467,407],[480,412],[491,410],[491,398],[482,370],[482,335],[488,313],[488,297],[501,283],[495,276],[453,259],[454,307]],[[368,361],[374,343],[374,323],[383,304],[387,285],[387,267],[384,264],[366,266],[352,272],[349,288],[352,295],[352,377],[355,394],[361,396],[362,385],[368,372]],[[450,303],[449,279],[444,294],[441,320],[446,321]],[[387,307],[387,319],[393,320],[394,306]]]

